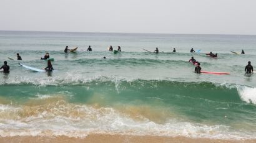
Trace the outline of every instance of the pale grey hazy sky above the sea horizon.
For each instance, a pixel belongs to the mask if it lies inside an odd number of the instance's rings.
[[[256,34],[256,1],[1,0],[0,30]]]

